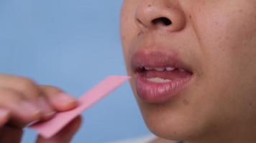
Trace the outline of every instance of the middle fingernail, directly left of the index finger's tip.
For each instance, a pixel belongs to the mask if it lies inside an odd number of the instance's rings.
[[[55,114],[55,111],[50,107],[50,104],[47,104],[43,97],[39,97],[38,104],[42,107],[42,114],[44,117],[52,117]]]

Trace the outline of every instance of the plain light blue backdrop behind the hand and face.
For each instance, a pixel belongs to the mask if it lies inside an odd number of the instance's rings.
[[[0,72],[79,97],[109,74],[126,74],[119,40],[121,0],[0,0]],[[125,84],[83,114],[73,142],[149,134]],[[23,142],[35,142],[26,129]]]

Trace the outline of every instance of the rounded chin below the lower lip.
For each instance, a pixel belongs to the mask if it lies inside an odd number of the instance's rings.
[[[170,102],[150,103],[137,95],[136,88],[132,89],[145,124],[157,137],[168,140],[193,140],[211,128],[209,122],[206,122],[209,119],[204,119],[202,114],[196,116],[197,107],[188,103],[182,95],[178,95]]]

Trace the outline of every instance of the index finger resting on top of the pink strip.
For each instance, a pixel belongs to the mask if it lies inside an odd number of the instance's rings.
[[[45,97],[52,104],[58,112],[67,111],[77,107],[78,102],[75,98],[71,97],[57,87],[42,85],[40,86],[41,91],[45,94]]]

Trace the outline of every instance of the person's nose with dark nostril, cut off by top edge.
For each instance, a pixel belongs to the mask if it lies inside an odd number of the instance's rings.
[[[186,26],[186,16],[175,0],[140,0],[135,21],[140,31],[180,31]]]

